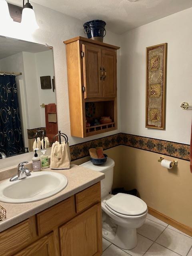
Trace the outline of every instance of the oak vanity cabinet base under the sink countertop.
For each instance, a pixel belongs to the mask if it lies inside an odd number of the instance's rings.
[[[0,256],[101,256],[100,182],[0,232]]]

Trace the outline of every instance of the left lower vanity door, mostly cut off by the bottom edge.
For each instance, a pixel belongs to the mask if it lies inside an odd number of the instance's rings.
[[[14,254],[14,256],[54,256],[54,235],[53,233],[40,238],[33,244],[27,246],[22,251]]]

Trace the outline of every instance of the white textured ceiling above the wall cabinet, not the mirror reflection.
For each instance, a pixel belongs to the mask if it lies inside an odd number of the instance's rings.
[[[86,22],[102,19],[106,29],[122,34],[192,7],[192,0],[32,0]]]

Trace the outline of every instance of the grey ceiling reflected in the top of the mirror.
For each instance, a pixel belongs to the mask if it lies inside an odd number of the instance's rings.
[[[0,60],[19,52],[44,52],[50,50],[42,44],[35,44],[32,42],[16,40],[0,36]]]

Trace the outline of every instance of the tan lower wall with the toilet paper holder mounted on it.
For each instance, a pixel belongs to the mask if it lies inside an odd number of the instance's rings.
[[[136,188],[148,206],[192,227],[192,174],[190,163],[178,159],[178,167],[162,168],[160,154],[120,146],[122,186]],[[164,156],[167,160],[174,158]]]

